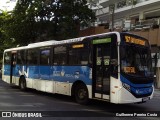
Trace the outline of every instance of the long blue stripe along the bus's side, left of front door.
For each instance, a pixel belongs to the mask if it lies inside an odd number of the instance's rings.
[[[10,75],[10,65],[4,66],[4,75]],[[24,74],[25,73],[25,74]],[[87,66],[21,66],[13,68],[13,76],[20,77],[24,74],[27,78],[56,80],[70,83],[82,80],[85,84],[91,85],[89,79],[90,68]]]

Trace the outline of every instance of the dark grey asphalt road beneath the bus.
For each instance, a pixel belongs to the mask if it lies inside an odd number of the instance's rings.
[[[0,80],[0,119],[148,119],[159,120],[160,90],[155,90],[154,98],[143,104],[111,104],[104,101],[91,100],[89,105],[77,104],[72,97],[48,94],[32,89],[21,91]],[[124,117],[127,115],[127,117]],[[134,117],[132,117],[132,115]],[[147,116],[146,116],[147,115]],[[151,117],[150,115],[154,115]],[[42,118],[41,118],[42,116]],[[136,116],[136,117],[135,117]],[[5,118],[4,118],[5,117]]]

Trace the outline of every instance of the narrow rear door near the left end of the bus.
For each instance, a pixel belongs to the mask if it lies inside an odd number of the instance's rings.
[[[11,53],[10,83],[15,83],[16,54],[16,51],[12,51]]]

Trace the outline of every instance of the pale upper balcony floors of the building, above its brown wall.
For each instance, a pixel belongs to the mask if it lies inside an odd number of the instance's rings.
[[[125,30],[149,28],[160,23],[160,0],[88,0],[88,2],[90,8],[96,12],[96,23],[109,23],[110,28],[112,21],[115,29]]]

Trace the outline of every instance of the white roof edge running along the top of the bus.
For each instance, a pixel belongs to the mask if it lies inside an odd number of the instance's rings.
[[[83,41],[85,38],[93,38],[93,37],[103,36],[103,35],[108,35],[108,34],[113,34],[113,33],[117,35],[119,34],[119,32],[108,32],[108,33],[84,36],[84,37],[79,37],[79,38],[72,38],[72,39],[61,40],[61,41],[49,40],[49,41],[31,43],[31,44],[28,44],[28,46],[6,49],[5,52],[14,51],[14,50],[16,51],[16,50],[21,50],[21,49],[31,49],[31,48],[36,48],[36,47],[51,46],[51,45],[66,44],[66,43],[74,43],[74,42]]]

